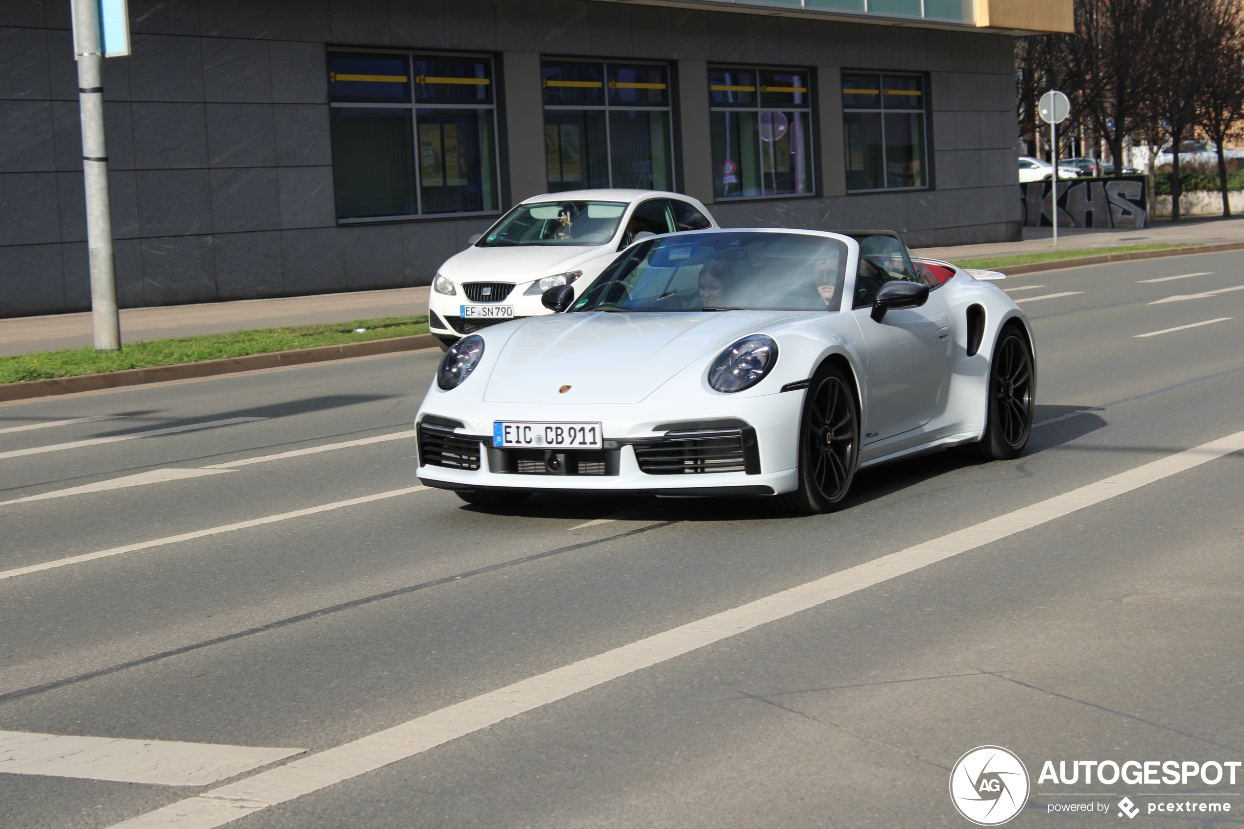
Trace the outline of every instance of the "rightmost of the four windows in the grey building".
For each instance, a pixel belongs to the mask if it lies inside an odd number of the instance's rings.
[[[924,78],[842,73],[847,190],[928,186]]]

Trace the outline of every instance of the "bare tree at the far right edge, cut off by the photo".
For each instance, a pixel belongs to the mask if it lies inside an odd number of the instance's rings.
[[[1200,94],[1197,96],[1197,121],[1218,147],[1218,184],[1223,194],[1223,215],[1232,215],[1227,199],[1227,140],[1244,118],[1244,9],[1240,0],[1218,0],[1207,21],[1207,39],[1213,48]]]

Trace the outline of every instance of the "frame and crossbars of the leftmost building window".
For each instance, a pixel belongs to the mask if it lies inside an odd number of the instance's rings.
[[[389,221],[432,221],[437,219],[464,219],[474,216],[500,216],[505,213],[505,209],[500,205],[504,203],[503,188],[501,188],[501,129],[500,129],[500,82],[498,80],[498,61],[496,56],[489,52],[454,52],[448,50],[412,50],[412,48],[366,48],[366,47],[353,47],[353,46],[328,46],[325,50],[325,63],[327,65],[327,58],[333,53],[352,53],[352,55],[401,55],[407,62],[407,78],[411,88],[411,101],[409,102],[355,102],[355,101],[332,101],[331,96],[328,99],[330,121],[331,111],[333,108],[376,108],[384,107],[388,109],[409,109],[411,111],[411,152],[414,158],[414,193],[415,193],[415,205],[420,213],[402,214],[393,216],[358,216],[342,219],[336,218],[338,225],[369,225]],[[491,103],[419,103],[414,92],[414,60],[417,57],[479,57],[489,62],[489,83],[493,87],[493,102]],[[493,181],[495,183],[496,191],[496,204],[498,206],[491,210],[466,210],[457,213],[422,213],[423,210],[423,169],[419,164],[419,118],[415,114],[417,109],[491,109],[493,111]],[[331,143],[331,138],[330,138]],[[331,147],[330,147],[331,152]],[[333,179],[333,213],[336,213],[337,199],[336,199],[336,178]]]

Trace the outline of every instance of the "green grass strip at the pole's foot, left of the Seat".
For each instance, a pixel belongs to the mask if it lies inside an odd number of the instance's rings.
[[[361,343],[369,339],[389,339],[391,337],[425,333],[428,333],[427,317],[386,317],[383,319],[355,319],[353,322],[318,326],[256,328],[228,334],[153,339],[147,343],[129,343],[119,352],[68,348],[40,354],[0,357],[0,383],[51,380],[77,374],[121,372],[128,368],[202,363],[226,357],[266,354],[340,343]]]

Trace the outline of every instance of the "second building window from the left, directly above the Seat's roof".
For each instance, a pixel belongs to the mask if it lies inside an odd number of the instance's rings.
[[[673,189],[669,67],[545,61],[549,191]]]

